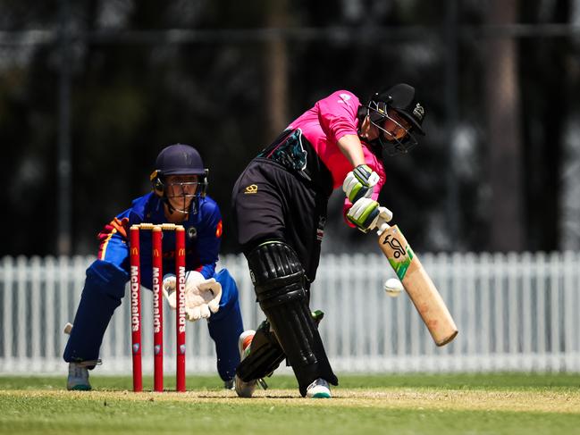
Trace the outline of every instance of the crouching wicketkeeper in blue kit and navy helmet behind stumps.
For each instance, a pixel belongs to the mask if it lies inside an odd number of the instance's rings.
[[[222,215],[214,200],[206,196],[207,170],[195,148],[181,144],[167,146],[157,156],[151,182],[153,191],[135,199],[128,210],[113,218],[98,235],[98,258],[88,267],[71,336],[64,350],[64,361],[69,363],[68,389],[91,389],[88,370],[100,363],[99,348],[105,330],[115,308],[121,305],[130,277],[129,229],[141,222],[175,223],[185,227],[186,313],[190,321],[207,319],[209,334],[215,342],[217,371],[226,388],[233,386],[235,369],[240,364],[238,337],[243,326],[235,281],[226,269],[215,272],[223,231]],[[141,231],[140,247],[141,282],[151,289],[151,231]],[[164,231],[164,271],[175,270],[174,251],[175,232]],[[173,307],[174,289],[175,277],[165,275],[164,294]],[[209,299],[204,291],[215,295],[207,304],[202,302]],[[196,306],[189,305],[189,300],[196,301]],[[127,333],[130,333],[129,324]]]

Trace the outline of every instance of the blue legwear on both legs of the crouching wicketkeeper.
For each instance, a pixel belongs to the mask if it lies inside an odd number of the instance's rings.
[[[220,309],[207,321],[210,337],[215,343],[217,372],[223,381],[233,378],[240,364],[238,338],[243,331],[238,287],[227,269],[214,274],[222,284]],[[64,361],[81,362],[98,359],[105,330],[114,310],[121,305],[129,274],[116,264],[97,260],[87,269],[71,337],[64,349]],[[129,325],[128,325],[129,326]],[[127,333],[130,329],[127,328]]]

